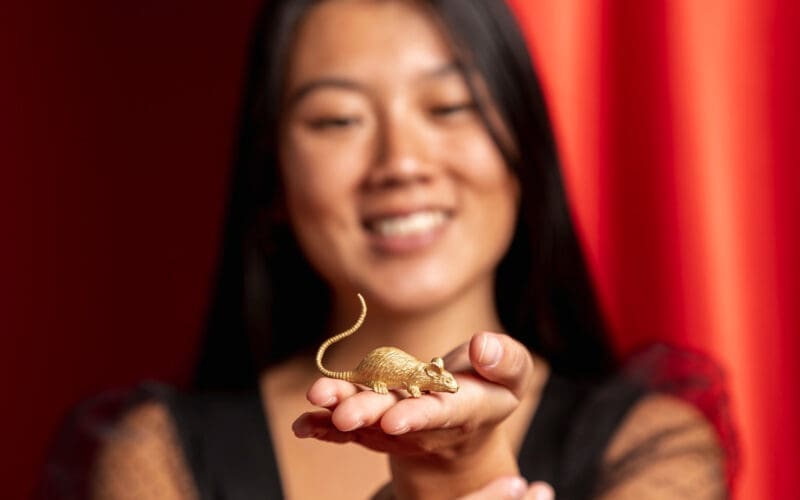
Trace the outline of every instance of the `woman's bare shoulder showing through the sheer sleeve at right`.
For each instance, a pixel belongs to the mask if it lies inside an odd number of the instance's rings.
[[[693,405],[648,393],[627,412],[604,453],[602,498],[724,498],[724,452]]]

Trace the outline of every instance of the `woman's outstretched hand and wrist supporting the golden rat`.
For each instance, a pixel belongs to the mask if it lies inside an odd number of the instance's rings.
[[[453,497],[518,475],[513,445],[498,424],[531,393],[528,350],[507,335],[485,332],[448,354],[445,366],[458,380],[455,394],[404,398],[320,378],[308,399],[326,410],[301,415],[294,432],[390,454],[402,498]]]

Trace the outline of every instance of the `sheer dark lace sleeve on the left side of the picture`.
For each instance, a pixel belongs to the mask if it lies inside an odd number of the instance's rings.
[[[166,386],[144,383],[76,405],[56,433],[34,498],[197,498]]]

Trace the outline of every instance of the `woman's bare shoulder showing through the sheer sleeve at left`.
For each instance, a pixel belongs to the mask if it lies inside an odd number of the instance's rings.
[[[196,498],[165,403],[143,401],[126,411],[108,430],[89,487],[92,498]]]

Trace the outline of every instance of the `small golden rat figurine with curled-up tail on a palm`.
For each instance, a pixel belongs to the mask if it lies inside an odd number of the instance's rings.
[[[361,316],[356,324],[323,342],[317,351],[317,368],[323,375],[365,385],[378,394],[387,394],[389,389],[406,389],[411,397],[418,398],[423,392],[458,391],[458,382],[444,369],[442,358],[433,358],[430,363],[425,363],[396,347],[373,349],[354,370],[334,372],[322,366],[325,350],[334,342],[355,333],[364,323],[367,304],[360,293],[358,298],[361,301]]]

